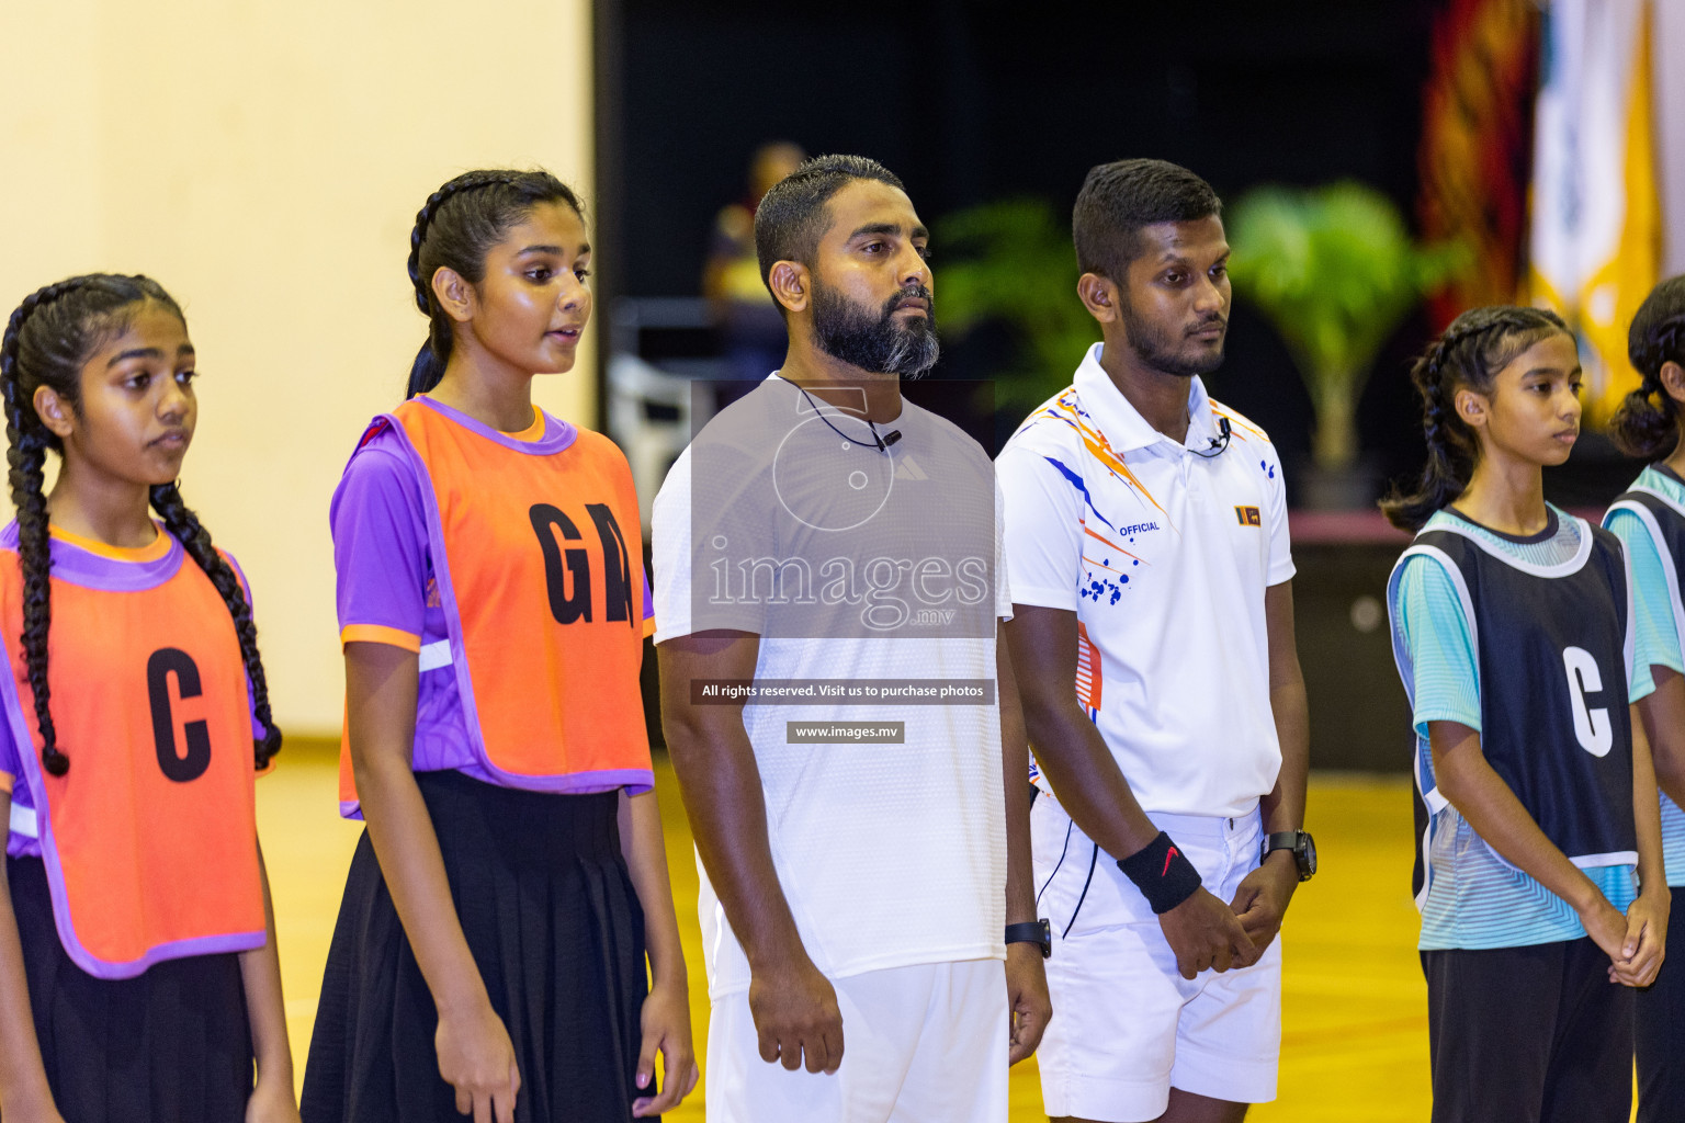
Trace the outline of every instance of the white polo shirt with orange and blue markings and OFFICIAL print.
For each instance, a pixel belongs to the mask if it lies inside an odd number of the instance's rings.
[[[1281,460],[1198,377],[1186,441],[1158,433],[1102,347],[996,460],[1013,601],[1077,613],[1077,694],[1144,810],[1242,815],[1281,771],[1264,621],[1264,589],[1294,572]],[[1228,446],[1200,456],[1218,418]]]

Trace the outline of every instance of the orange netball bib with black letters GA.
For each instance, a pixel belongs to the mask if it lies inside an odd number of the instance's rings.
[[[521,441],[420,397],[364,443],[391,426],[421,483],[450,635],[430,658],[452,665],[479,763],[534,791],[649,788],[632,471],[608,438],[544,424]]]

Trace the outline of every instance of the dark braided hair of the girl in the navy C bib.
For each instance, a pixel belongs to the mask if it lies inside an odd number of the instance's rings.
[[[1410,367],[1410,382],[1422,396],[1422,431],[1427,465],[1420,487],[1405,495],[1393,485],[1380,502],[1382,514],[1400,530],[1420,530],[1436,510],[1468,487],[1479,460],[1479,439],[1452,409],[1459,387],[1486,394],[1491,382],[1528,347],[1567,333],[1562,317],[1545,308],[1493,305],[1471,308],[1451,322],[1446,333]]]

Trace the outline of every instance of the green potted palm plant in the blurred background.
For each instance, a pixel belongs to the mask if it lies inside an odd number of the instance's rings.
[[[1235,293],[1287,345],[1311,392],[1308,507],[1367,503],[1356,406],[1382,345],[1422,296],[1468,261],[1463,246],[1414,239],[1383,194],[1355,182],[1259,187],[1227,216]]]

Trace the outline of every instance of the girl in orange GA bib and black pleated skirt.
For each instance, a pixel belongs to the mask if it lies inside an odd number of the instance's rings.
[[[698,1079],[639,692],[637,495],[607,438],[532,406],[534,375],[573,369],[588,263],[546,172],[468,172],[416,216],[428,340],[330,512],[340,806],[367,830],[308,1123],[620,1121]]]

